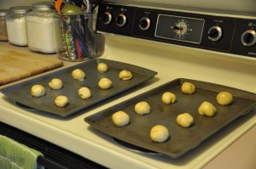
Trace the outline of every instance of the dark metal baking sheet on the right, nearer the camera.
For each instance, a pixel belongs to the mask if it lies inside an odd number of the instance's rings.
[[[194,83],[196,87],[195,93],[181,93],[180,88],[183,82]],[[166,91],[176,94],[177,102],[175,104],[163,104],[161,102],[161,95]],[[233,94],[232,104],[224,106],[217,103],[216,96],[223,91]],[[135,113],[134,106],[140,101],[148,102],[151,107],[150,114],[137,115]],[[215,116],[207,117],[198,114],[198,107],[203,101],[208,101],[216,107],[217,114]],[[90,115],[84,118],[84,121],[113,138],[177,158],[188,152],[189,149],[201,144],[214,132],[218,132],[218,130],[234,121],[247,110],[250,110],[255,105],[255,102],[255,93],[248,93],[236,88],[208,82],[177,79],[125,102],[113,105],[113,107],[102,110],[95,115]],[[118,110],[124,110],[130,115],[131,122],[128,126],[115,127],[113,125],[111,116]],[[195,124],[192,127],[183,128],[177,124],[177,115],[184,112],[189,112],[193,115]],[[158,124],[166,126],[170,132],[170,138],[162,144],[154,143],[149,138],[151,127]]]

